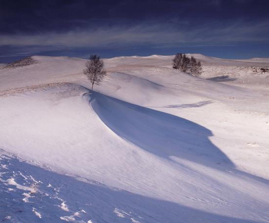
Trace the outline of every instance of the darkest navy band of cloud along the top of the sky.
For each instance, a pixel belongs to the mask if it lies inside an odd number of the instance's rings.
[[[4,0],[1,33],[66,31],[99,25],[133,25],[145,21],[185,22],[268,19],[267,0]]]

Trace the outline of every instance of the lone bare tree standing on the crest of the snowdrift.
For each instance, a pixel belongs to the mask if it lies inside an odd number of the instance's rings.
[[[91,82],[91,90],[93,88],[93,84],[99,85],[103,77],[107,74],[104,70],[103,60],[101,60],[96,54],[90,55],[90,60],[86,62],[86,68],[83,70],[83,73]]]

